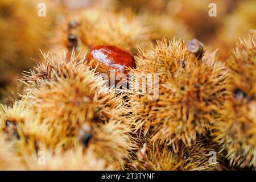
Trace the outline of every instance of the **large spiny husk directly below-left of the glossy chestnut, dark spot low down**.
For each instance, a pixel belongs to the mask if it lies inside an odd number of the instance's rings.
[[[121,167],[131,148],[121,97],[106,88],[84,60],[76,61],[75,54],[68,63],[65,56],[48,54],[44,59],[36,71],[26,73],[23,99],[51,129],[50,145],[67,149],[83,143],[86,150],[94,148],[96,156]]]

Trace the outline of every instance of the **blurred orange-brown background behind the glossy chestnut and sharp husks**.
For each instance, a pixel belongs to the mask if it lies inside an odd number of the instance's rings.
[[[38,15],[42,8],[38,5],[42,2],[46,5],[46,16],[43,17]],[[216,4],[217,16],[209,16],[210,3]],[[94,10],[100,13],[94,14]],[[136,24],[133,23],[134,19],[130,24],[119,18],[118,25],[114,26],[117,31],[118,28],[122,31],[134,30],[127,36],[129,46],[120,44],[120,47],[127,48],[134,55],[135,44],[141,46],[148,41],[154,44],[156,39],[173,39],[175,36],[186,41],[199,39],[208,52],[218,50],[218,60],[225,62],[237,39],[247,37],[251,30],[256,29],[255,0],[0,0],[1,102],[7,103],[7,98],[10,98],[8,95],[13,94],[15,98],[18,97],[16,92],[22,92],[23,86],[17,80],[22,77],[22,71],[32,69],[40,61],[39,50],[62,53],[70,49],[71,37],[68,37],[67,43],[65,35],[70,35],[70,30],[61,27],[68,27],[67,20],[72,25],[70,20],[73,17],[82,20],[86,12],[89,12],[86,19],[91,20],[88,22],[93,22],[96,16],[98,19],[90,25],[90,29],[82,26],[90,31],[81,36],[86,36],[86,42],[92,39],[92,43],[86,45],[85,41],[81,41],[79,51],[84,50],[83,46],[97,46],[102,43],[98,41],[103,39],[101,36],[107,36],[104,35],[104,22],[110,18],[103,12],[114,13],[113,17],[110,16],[113,22],[124,12],[135,16]],[[142,24],[146,27],[147,36],[144,36],[146,33],[138,34],[138,31],[145,30],[139,29]],[[129,26],[133,27],[129,29]],[[84,39],[81,37],[81,40]],[[115,36],[114,39],[104,39],[104,43],[119,46],[115,39],[126,41]],[[64,46],[60,48],[62,44]]]

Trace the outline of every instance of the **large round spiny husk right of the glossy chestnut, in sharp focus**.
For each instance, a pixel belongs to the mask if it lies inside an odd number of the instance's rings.
[[[191,146],[197,134],[207,134],[229,95],[225,68],[198,60],[187,51],[183,40],[175,39],[158,41],[147,52],[140,50],[135,60],[137,69],[131,70],[130,82],[133,89],[127,94],[135,131],[151,131],[153,142],[160,140],[175,151],[179,150],[179,140]],[[152,78],[158,74],[154,84],[145,82],[144,73],[152,74]],[[144,84],[153,92],[142,93]]]

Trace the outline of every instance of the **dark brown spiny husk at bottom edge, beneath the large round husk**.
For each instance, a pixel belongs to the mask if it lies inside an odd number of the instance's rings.
[[[191,147],[181,144],[180,151],[172,147],[152,143],[147,140],[138,148],[134,159],[127,164],[127,169],[153,171],[203,171],[213,170],[217,163],[209,163],[210,148],[205,148],[202,142],[193,142]]]

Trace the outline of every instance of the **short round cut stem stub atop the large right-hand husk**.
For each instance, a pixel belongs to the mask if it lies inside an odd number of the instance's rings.
[[[197,59],[201,60],[204,56],[204,44],[197,39],[192,39],[188,42],[187,49],[189,52],[195,54]]]

